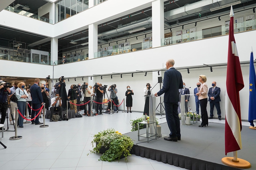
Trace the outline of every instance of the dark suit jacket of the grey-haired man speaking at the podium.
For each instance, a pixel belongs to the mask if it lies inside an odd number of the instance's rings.
[[[183,88],[181,73],[171,67],[164,72],[163,87],[157,92],[157,95],[160,96],[164,93],[164,102],[178,102],[180,88]]]

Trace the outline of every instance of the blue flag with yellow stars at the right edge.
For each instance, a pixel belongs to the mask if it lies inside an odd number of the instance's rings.
[[[249,75],[249,116],[248,122],[254,127],[253,120],[256,119],[256,75],[253,64],[253,53],[251,52],[250,59],[250,75]]]

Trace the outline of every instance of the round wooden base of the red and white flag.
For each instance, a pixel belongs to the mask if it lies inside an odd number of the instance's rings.
[[[235,168],[242,168],[247,169],[251,167],[250,162],[237,158],[237,162],[233,161],[233,157],[224,157],[221,159],[221,162],[227,166],[235,167]]]

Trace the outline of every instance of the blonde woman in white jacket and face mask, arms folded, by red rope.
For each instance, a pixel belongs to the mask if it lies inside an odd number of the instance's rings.
[[[25,88],[25,83],[24,82],[20,82],[18,84],[18,88],[15,91],[15,95],[18,99],[17,101],[17,107],[19,109],[19,111],[21,112],[21,114],[24,116],[25,111],[26,111],[26,98],[28,98],[28,93],[26,90],[24,90]],[[21,115],[19,114],[19,118],[18,118],[18,126],[20,128],[23,128],[23,117],[21,117]]]

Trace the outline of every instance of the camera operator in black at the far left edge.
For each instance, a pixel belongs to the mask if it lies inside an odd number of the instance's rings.
[[[6,111],[8,108],[7,103],[7,95],[5,92],[8,92],[8,94],[12,94],[12,91],[8,87],[8,84],[5,83],[3,80],[0,80],[0,112],[1,112],[1,120],[0,124],[4,124],[5,118],[6,118]],[[2,130],[2,128],[0,128]]]

